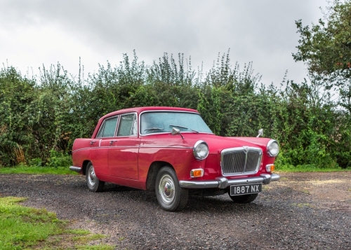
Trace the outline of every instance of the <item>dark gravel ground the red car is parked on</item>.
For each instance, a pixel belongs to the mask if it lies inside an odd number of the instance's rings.
[[[251,204],[192,196],[184,211],[159,208],[154,193],[84,176],[0,174],[0,195],[55,211],[74,228],[110,235],[116,249],[351,249],[351,172],[281,174]]]

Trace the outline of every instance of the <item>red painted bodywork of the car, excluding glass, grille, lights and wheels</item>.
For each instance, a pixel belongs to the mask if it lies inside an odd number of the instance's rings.
[[[85,160],[94,165],[95,174],[101,181],[117,183],[122,186],[146,189],[147,174],[152,162],[168,162],[176,171],[178,180],[214,180],[222,176],[220,168],[220,152],[225,148],[239,146],[258,146],[263,150],[263,158],[259,176],[266,173],[265,165],[274,163],[275,158],[266,153],[270,139],[256,137],[218,137],[214,134],[182,132],[180,135],[148,134],[136,137],[109,137],[95,139],[105,118],[121,113],[140,113],[152,110],[190,111],[175,107],[141,107],[114,111],[103,116],[93,132],[91,139],[76,139],[72,148],[72,160],[75,167],[82,167]],[[139,131],[139,129],[138,129]],[[199,141],[206,141],[209,155],[205,160],[194,158],[192,147]],[[93,141],[93,144],[91,142]],[[110,144],[112,141],[112,144]],[[123,146],[123,147],[121,147]],[[196,179],[190,177],[191,169],[204,169],[204,176]],[[245,176],[226,176],[227,179],[246,178]]]

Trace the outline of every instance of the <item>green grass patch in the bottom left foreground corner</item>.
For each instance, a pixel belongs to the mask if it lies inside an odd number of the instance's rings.
[[[95,249],[112,250],[110,245],[90,245],[105,235],[88,230],[68,229],[68,221],[59,220],[46,209],[22,207],[21,197],[0,197],[0,249]]]

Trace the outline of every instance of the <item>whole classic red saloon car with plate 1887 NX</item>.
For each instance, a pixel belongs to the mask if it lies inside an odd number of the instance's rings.
[[[142,107],[100,118],[91,139],[76,139],[71,170],[86,175],[89,190],[105,182],[155,190],[166,211],[180,211],[188,195],[223,195],[249,203],[272,174],[277,141],[219,137],[194,109]]]

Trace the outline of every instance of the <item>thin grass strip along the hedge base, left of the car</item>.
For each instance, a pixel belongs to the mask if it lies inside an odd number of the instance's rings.
[[[0,174],[77,174],[68,167],[0,167]]]

